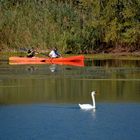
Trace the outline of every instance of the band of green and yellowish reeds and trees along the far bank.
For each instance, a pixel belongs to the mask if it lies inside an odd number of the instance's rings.
[[[140,50],[140,0],[0,0],[0,49]]]

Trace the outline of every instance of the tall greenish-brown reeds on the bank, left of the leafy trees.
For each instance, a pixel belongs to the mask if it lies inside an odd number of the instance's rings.
[[[67,4],[36,0],[0,4],[0,46],[3,48],[48,49],[56,46],[65,50],[66,40],[71,38],[70,26],[76,20]],[[75,18],[75,19],[74,19]]]

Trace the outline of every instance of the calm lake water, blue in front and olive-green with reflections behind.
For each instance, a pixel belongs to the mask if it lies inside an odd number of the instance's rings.
[[[95,110],[83,111],[95,90]],[[140,61],[84,67],[0,61],[0,140],[139,140]]]

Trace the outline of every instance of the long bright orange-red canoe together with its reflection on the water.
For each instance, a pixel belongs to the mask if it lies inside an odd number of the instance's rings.
[[[9,64],[61,64],[61,65],[73,65],[84,66],[84,56],[69,56],[60,58],[43,58],[43,57],[9,57]]]

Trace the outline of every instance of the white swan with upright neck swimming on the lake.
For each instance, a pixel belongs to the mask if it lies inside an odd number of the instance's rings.
[[[84,109],[84,110],[95,109],[96,105],[95,105],[95,97],[94,97],[94,95],[95,95],[95,91],[92,91],[91,92],[91,97],[92,97],[93,105],[90,105],[90,104],[79,104],[80,108]]]

